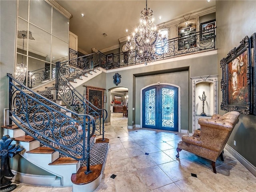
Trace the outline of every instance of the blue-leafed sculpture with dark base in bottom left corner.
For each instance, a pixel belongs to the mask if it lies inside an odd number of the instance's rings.
[[[0,192],[9,192],[14,190],[17,186],[12,184],[12,178],[14,174],[10,169],[9,158],[13,158],[16,154],[24,150],[24,148],[15,144],[10,145],[14,138],[10,138],[9,135],[5,135],[0,140],[0,158],[1,158],[1,183]]]

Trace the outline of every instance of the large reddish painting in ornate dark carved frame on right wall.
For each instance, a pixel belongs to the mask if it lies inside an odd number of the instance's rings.
[[[237,48],[232,49],[226,58],[220,61],[222,67],[221,110],[252,113],[252,67],[250,40],[246,36]]]

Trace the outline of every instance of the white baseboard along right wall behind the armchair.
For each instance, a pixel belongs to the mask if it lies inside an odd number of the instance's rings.
[[[254,167],[248,160],[240,155],[236,150],[226,144],[225,149],[230,152],[248,171],[250,171],[256,177],[256,167]]]

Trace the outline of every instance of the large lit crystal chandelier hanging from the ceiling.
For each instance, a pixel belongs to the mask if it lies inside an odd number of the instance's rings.
[[[140,24],[132,37],[128,36],[126,48],[129,49],[129,59],[138,60],[147,65],[147,62],[156,60],[156,44],[161,41],[157,27],[154,24],[153,11],[147,6],[140,13]]]

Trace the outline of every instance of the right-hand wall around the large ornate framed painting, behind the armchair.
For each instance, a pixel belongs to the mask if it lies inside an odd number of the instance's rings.
[[[256,1],[216,1],[216,26],[218,42],[218,81],[222,78],[220,60],[230,50],[239,46],[245,36],[256,32]],[[222,92],[218,86],[218,111],[220,110]],[[236,140],[236,146],[234,146]],[[229,140],[230,145],[252,165],[256,166],[256,116],[240,115],[239,123],[234,128]]]

